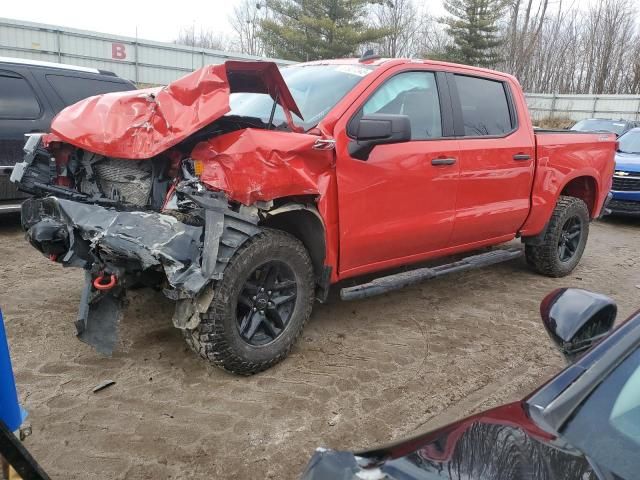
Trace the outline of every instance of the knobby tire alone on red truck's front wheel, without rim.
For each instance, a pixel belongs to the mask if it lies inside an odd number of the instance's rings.
[[[261,264],[280,260],[294,272],[297,295],[290,320],[271,343],[253,346],[238,331],[236,305],[245,280]],[[217,283],[209,309],[193,330],[183,330],[191,349],[205,360],[239,375],[252,375],[284,359],[311,315],[314,302],[313,266],[304,245],[286,232],[264,229],[234,254]]]

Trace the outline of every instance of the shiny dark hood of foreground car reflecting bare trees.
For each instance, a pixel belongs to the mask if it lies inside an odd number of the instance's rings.
[[[356,454],[320,449],[303,479],[586,480],[579,452],[540,430],[520,402],[390,447]]]

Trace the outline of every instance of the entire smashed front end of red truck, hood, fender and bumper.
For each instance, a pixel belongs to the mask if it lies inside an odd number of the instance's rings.
[[[230,93],[243,91],[271,96],[291,128],[225,116]],[[275,64],[227,62],[164,88],[88,98],[61,112],[51,134],[29,136],[11,177],[34,195],[23,228],[49,259],[85,270],[81,340],[111,354],[136,286],[176,302],[176,327],[198,326],[272,199],[318,194],[331,156],[312,151],[317,137],[297,132],[291,112],[300,115]],[[310,169],[296,149],[311,152]]]

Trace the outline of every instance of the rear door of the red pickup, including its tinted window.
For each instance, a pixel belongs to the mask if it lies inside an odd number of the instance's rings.
[[[535,143],[503,78],[450,73],[460,177],[451,246],[515,234],[530,208]]]

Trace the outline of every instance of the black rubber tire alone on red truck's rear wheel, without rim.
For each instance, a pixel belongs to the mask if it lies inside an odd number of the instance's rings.
[[[570,260],[563,262],[558,255],[558,242],[567,220],[578,217],[582,223],[580,243]],[[589,209],[579,198],[561,196],[547,226],[542,244],[526,245],[527,264],[549,277],[564,277],[578,265],[589,236]]]

